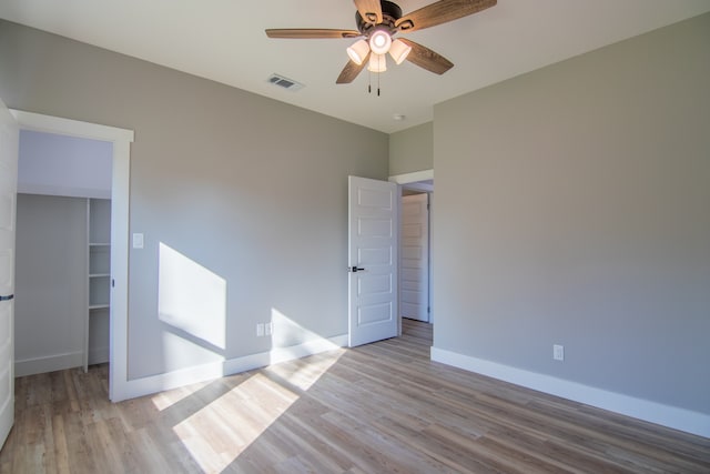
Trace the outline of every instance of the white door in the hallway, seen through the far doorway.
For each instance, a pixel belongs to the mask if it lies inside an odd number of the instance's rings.
[[[429,321],[428,194],[402,198],[402,265],[399,314]]]

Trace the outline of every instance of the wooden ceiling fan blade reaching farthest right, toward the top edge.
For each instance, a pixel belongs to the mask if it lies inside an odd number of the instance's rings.
[[[497,0],[440,0],[395,21],[399,31],[415,31],[468,17],[490,8]]]

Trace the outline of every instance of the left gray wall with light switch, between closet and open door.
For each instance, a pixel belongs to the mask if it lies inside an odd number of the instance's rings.
[[[347,175],[387,178],[386,134],[8,22],[0,64],[11,108],[135,131],[131,379],[267,351],[274,311],[275,344],[346,333]],[[225,284],[222,346],[159,317],[161,243]]]

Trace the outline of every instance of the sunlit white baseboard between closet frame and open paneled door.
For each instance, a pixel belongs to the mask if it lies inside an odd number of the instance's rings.
[[[213,362],[164,374],[152,375],[143,379],[130,380],[125,384],[125,391],[113,393],[113,402],[150,395],[165,390],[178,389],[192,383],[206,382],[225,375],[252,371],[280,362],[318,354],[321,352],[344,347],[347,345],[347,335],[338,335],[328,339],[308,341],[290,347],[275,347],[268,352],[230,359],[227,361]]]

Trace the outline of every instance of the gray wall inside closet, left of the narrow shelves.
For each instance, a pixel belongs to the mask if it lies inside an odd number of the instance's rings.
[[[18,194],[16,251],[18,375],[81,365],[87,200]]]

